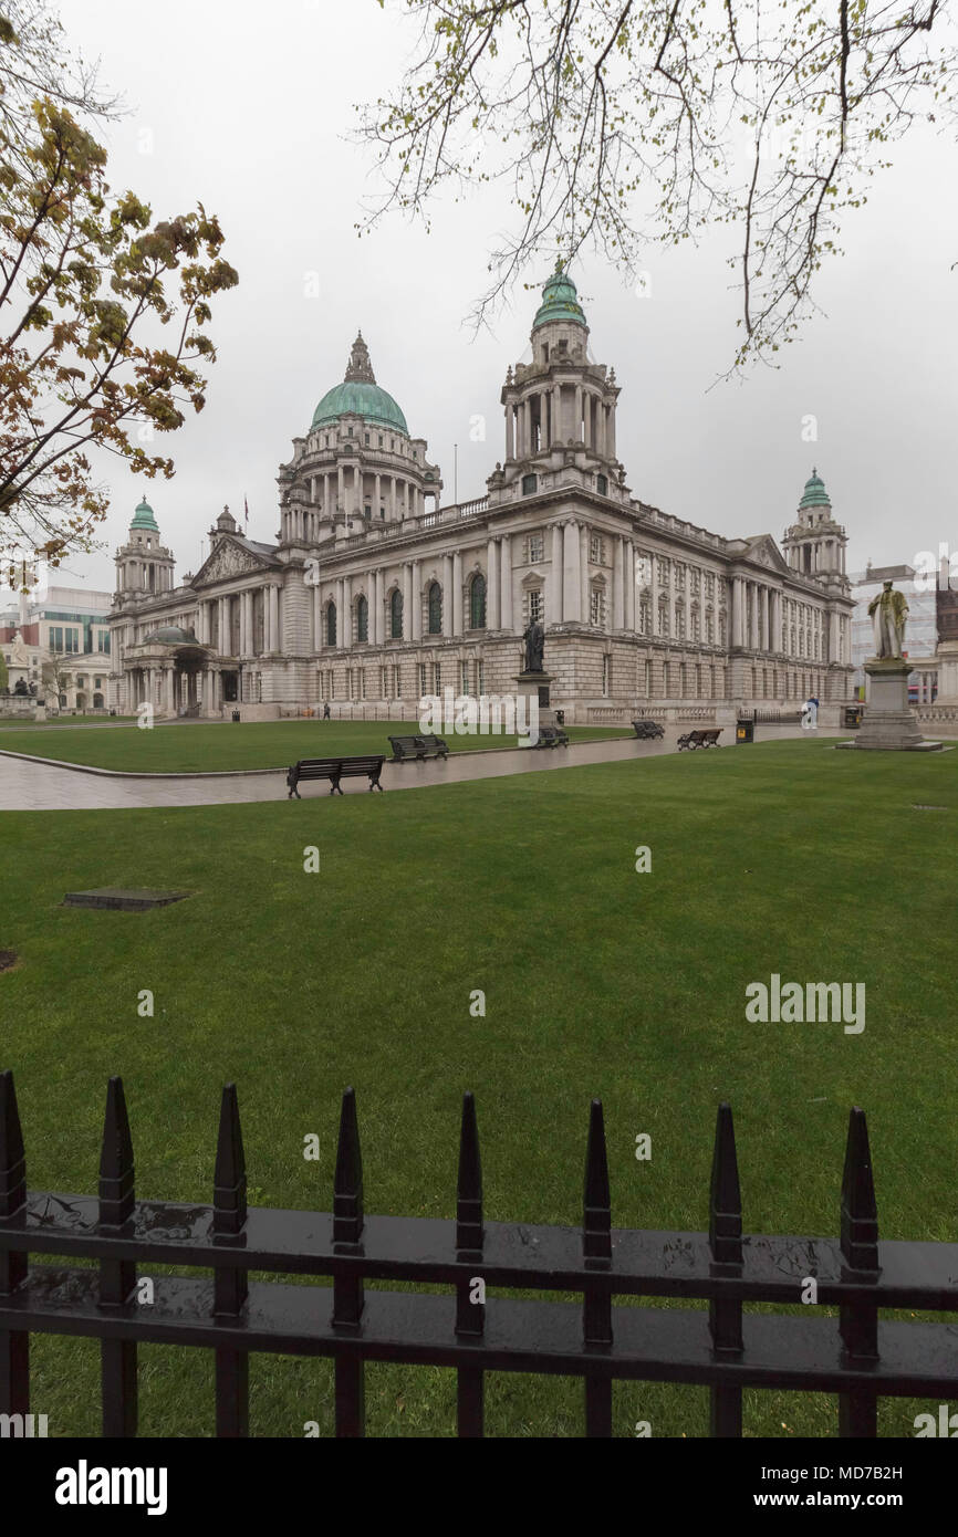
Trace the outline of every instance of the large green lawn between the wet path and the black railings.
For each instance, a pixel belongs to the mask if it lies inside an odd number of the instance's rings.
[[[860,1104],[881,1234],[953,1242],[956,815],[958,753],[821,741],[335,802],[11,813],[0,948],[20,962],[0,973],[0,1065],[17,1077],[29,1185],[95,1188],[120,1073],[137,1193],[208,1202],[220,1087],[235,1079],[252,1200],[329,1210],[354,1084],[366,1210],[451,1217],[472,1088],[487,1217],[575,1225],[598,1094],[614,1223],[701,1230],[729,1099],[746,1231],[835,1234]],[[303,873],[311,844],[318,875]],[[108,884],[194,895],[146,915],[58,905]],[[864,982],[864,1031],[749,1024],[746,985],[773,971]],[[137,1014],[143,988],[152,1019]],[[477,988],[484,1017],[469,1011]],[[311,1131],[318,1164],[301,1156]],[[640,1133],[650,1162],[635,1159]],[[97,1434],[97,1346],[37,1339],[32,1353],[51,1434]],[[151,1346],[141,1362],[141,1432],[209,1434],[208,1353]],[[300,1436],[308,1419],[331,1431],[328,1363],[260,1356],[251,1376],[254,1434]],[[746,1434],[837,1431],[832,1399],[746,1400]],[[368,1373],[371,1434],[449,1434],[454,1402],[447,1371]],[[883,1400],[881,1432],[913,1434],[924,1408]],[[704,1436],[707,1393],[617,1385],[615,1432],[640,1419]],[[581,1386],[492,1376],[487,1422],[581,1434]]]

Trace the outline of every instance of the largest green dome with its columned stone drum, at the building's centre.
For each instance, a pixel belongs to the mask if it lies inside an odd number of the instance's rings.
[[[341,384],[321,397],[309,432],[292,440],[280,467],[280,546],[306,550],[369,526],[420,520],[438,510],[443,476],[412,438],[406,415],[377,384],[360,330]]]

